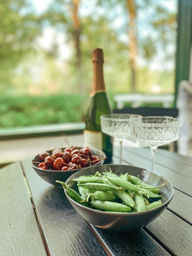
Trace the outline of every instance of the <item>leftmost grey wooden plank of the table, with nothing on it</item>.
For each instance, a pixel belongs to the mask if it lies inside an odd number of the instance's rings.
[[[47,255],[20,164],[0,174],[0,254]]]

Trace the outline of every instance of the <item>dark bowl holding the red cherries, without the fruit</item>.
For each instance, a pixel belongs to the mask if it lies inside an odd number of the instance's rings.
[[[64,148],[62,148],[63,150]],[[79,148],[80,149],[80,148]],[[92,152],[94,155],[98,156],[99,158],[103,158],[106,156],[106,154],[96,148],[91,148]],[[49,152],[49,154],[51,155],[51,151],[49,150],[47,152]],[[96,165],[101,165],[104,163],[104,159],[101,160],[100,162],[98,162],[97,164],[94,164],[92,166],[96,166]],[[39,159],[39,155],[35,156],[34,159],[32,160],[32,162],[40,162]],[[48,183],[55,185],[57,187],[62,187],[61,184],[56,183],[56,180],[61,180],[61,181],[66,181],[72,174],[78,172],[81,169],[77,169],[77,170],[71,170],[71,171],[50,171],[50,170],[42,170],[40,168],[38,168],[38,164],[37,163],[32,163],[32,167],[33,169],[36,171],[36,173],[45,181],[47,181]],[[89,167],[86,167],[89,168]],[[86,168],[83,168],[82,170],[85,170]]]

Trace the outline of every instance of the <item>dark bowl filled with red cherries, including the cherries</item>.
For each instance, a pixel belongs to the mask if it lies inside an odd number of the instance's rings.
[[[45,181],[59,186],[56,180],[66,181],[72,174],[82,168],[101,165],[106,155],[96,148],[55,148],[35,156],[32,167],[35,172]]]

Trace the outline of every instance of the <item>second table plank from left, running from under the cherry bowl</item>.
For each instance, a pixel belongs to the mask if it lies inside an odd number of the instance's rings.
[[[106,255],[63,189],[42,180],[29,161],[22,162],[32,199],[51,255]]]

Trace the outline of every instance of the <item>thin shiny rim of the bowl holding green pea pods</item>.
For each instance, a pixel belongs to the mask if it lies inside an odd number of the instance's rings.
[[[120,166],[129,166],[129,165],[125,165],[125,164],[103,164],[103,166],[117,166],[117,165],[120,165]],[[90,166],[90,168],[91,168],[92,166]],[[137,166],[130,166],[130,167],[136,167],[136,168],[140,168],[140,167],[137,167]],[[148,169],[144,169],[144,168],[140,168],[140,169],[142,169],[142,170],[147,170],[147,171],[149,171],[149,172],[152,172],[152,171],[150,171],[150,170],[148,170]],[[81,171],[81,170],[80,170]],[[80,172],[79,171],[79,172]],[[73,174],[73,175],[76,175],[78,172],[76,172],[75,174]],[[157,176],[159,176],[160,178],[163,178],[163,179],[165,179],[164,177],[162,177],[160,174],[158,174],[158,173],[156,173],[156,172],[153,172],[154,174],[156,174]],[[65,183],[67,183],[68,181],[69,181],[69,179],[71,179],[71,177],[73,176],[73,175],[71,175],[66,181],[65,181]],[[66,195],[66,197],[67,197],[67,199],[68,199],[68,201],[72,201],[75,205],[77,205],[78,207],[80,207],[80,208],[82,208],[82,209],[86,209],[86,210],[90,210],[91,212],[96,212],[96,213],[100,213],[100,214],[110,214],[110,215],[120,215],[120,216],[124,216],[125,214],[127,214],[127,216],[130,216],[130,215],[139,215],[139,214],[143,214],[143,213],[146,213],[146,212],[153,212],[154,210],[157,210],[157,209],[160,209],[160,208],[163,208],[164,206],[166,206],[166,205],[168,205],[168,203],[172,200],[172,198],[173,198],[173,196],[174,196],[174,188],[173,188],[173,186],[172,186],[172,184],[167,180],[167,179],[165,179],[168,183],[169,183],[169,185],[171,186],[171,189],[172,189],[172,193],[171,193],[171,197],[170,197],[170,199],[168,199],[165,203],[163,203],[162,205],[160,205],[160,206],[158,206],[158,207],[155,207],[155,208],[153,208],[153,209],[150,209],[150,210],[146,210],[146,211],[143,211],[143,212],[121,212],[121,213],[117,213],[117,212],[108,212],[108,211],[100,211],[100,210],[95,210],[95,209],[92,209],[92,208],[88,208],[88,207],[86,207],[86,206],[83,206],[83,205],[81,205],[81,204],[79,204],[79,203],[77,203],[77,202],[75,202],[71,197],[69,197],[69,195],[67,194],[67,192],[66,192],[66,189],[64,189],[64,192],[65,192],[65,195]]]

